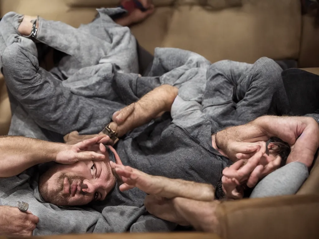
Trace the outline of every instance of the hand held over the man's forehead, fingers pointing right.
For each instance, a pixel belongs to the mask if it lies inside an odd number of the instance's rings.
[[[80,141],[74,145],[65,144],[63,150],[56,154],[56,163],[72,164],[78,161],[103,161],[106,152],[101,143],[106,138],[104,135]],[[107,139],[106,139],[107,140]]]

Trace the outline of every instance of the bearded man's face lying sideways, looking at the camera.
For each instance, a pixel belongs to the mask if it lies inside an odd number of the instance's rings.
[[[104,200],[116,182],[106,156],[101,162],[56,164],[40,177],[41,196],[57,206],[80,206]]]

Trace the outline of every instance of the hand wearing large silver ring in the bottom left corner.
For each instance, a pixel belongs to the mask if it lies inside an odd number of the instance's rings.
[[[7,236],[32,236],[39,218],[30,211],[21,212],[18,207],[0,206],[1,234]]]

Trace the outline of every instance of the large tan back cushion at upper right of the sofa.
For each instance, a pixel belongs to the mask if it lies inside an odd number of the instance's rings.
[[[257,0],[254,4],[243,0],[242,4],[222,11],[208,11],[201,6],[177,7],[162,46],[194,51],[212,62],[255,62],[262,56],[298,58],[299,0]],[[155,27],[147,31],[152,34]]]

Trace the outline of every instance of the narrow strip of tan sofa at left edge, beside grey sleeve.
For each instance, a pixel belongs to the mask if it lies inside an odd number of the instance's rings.
[[[10,103],[3,75],[0,74],[0,135],[8,134],[11,122]]]

